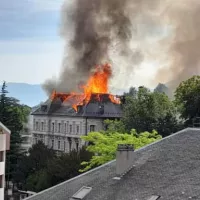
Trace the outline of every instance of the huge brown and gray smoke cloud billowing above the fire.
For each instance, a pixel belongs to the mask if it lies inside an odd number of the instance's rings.
[[[115,87],[131,85],[143,62],[162,66],[156,82],[178,83],[199,73],[199,0],[75,0],[63,5],[63,66],[45,90],[78,91],[95,65],[113,65]],[[155,82],[154,81],[154,82]],[[119,84],[120,83],[120,84]]]

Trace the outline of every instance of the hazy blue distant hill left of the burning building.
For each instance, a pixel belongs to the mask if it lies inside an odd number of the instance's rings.
[[[28,83],[6,83],[8,96],[15,97],[20,100],[20,103],[30,107],[38,105],[40,102],[47,99],[45,91],[40,84]]]

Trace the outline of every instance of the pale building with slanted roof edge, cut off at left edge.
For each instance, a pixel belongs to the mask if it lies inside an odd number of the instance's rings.
[[[10,149],[10,133],[0,122],[0,200],[4,199],[6,151]]]

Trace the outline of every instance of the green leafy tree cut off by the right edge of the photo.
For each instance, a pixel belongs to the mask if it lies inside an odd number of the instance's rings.
[[[186,125],[200,117],[200,76],[193,76],[180,83],[175,91],[175,103]]]

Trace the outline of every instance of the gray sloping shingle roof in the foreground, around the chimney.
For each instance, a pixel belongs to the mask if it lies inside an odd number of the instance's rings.
[[[185,129],[134,153],[133,168],[114,180],[116,161],[40,192],[29,200],[69,200],[82,186],[85,200],[200,199],[200,129]]]

